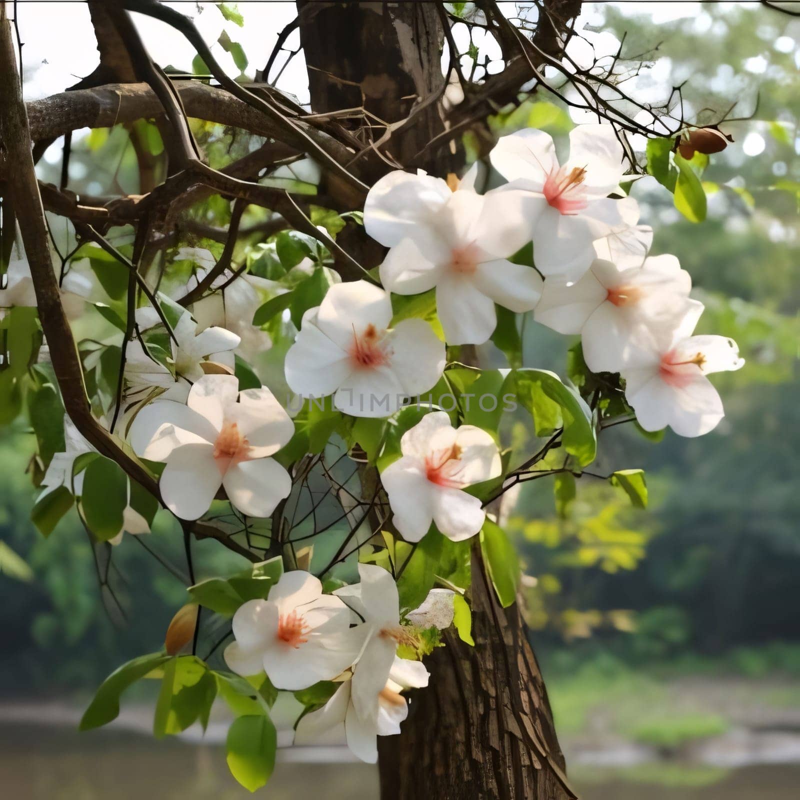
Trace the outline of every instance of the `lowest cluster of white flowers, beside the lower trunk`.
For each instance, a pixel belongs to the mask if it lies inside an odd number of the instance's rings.
[[[250,600],[234,614],[236,641],[225,660],[241,675],[266,672],[276,689],[339,682],[324,706],[302,716],[294,742],[344,739],[374,763],[377,737],[398,734],[408,714],[400,693],[427,686],[428,671],[398,657],[400,644],[414,642],[414,629],[401,623],[394,578],[370,564],[360,564],[358,574],[359,583],[334,594],[322,594],[319,579],[302,570],[283,574],[266,600]]]

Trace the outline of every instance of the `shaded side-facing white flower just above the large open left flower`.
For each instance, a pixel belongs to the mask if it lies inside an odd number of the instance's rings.
[[[139,312],[142,311],[145,313],[140,314]],[[154,309],[150,307],[142,308],[137,311],[137,318],[150,322],[150,317],[154,313]],[[177,344],[170,337],[170,358],[174,363],[175,377],[166,366],[156,361],[145,350],[139,339],[128,342],[125,354],[125,377],[128,385],[135,391],[149,386],[170,389],[174,387],[176,379],[180,378],[195,382],[205,374],[200,366],[203,361],[217,362],[233,372],[235,366],[233,351],[239,344],[239,337],[221,327],[206,328],[200,333],[197,332],[197,329],[198,323],[192,319],[188,311],[182,314],[173,329]],[[172,399],[185,397],[186,389],[178,394],[170,395]]]

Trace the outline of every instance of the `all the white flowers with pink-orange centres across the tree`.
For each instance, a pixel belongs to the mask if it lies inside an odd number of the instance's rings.
[[[702,303],[690,299],[690,277],[674,256],[648,255],[652,230],[620,186],[626,163],[613,128],[576,128],[563,164],[540,130],[501,138],[490,161],[506,183],[485,194],[475,190],[477,166],[461,182],[397,171],[372,187],[364,225],[389,248],[382,287],[337,283],[306,310],[286,354],[290,389],[303,398],[332,395],[335,408],[354,417],[389,417],[442,378],[445,342],[490,339],[497,304],[580,334],[586,365],[621,374],[645,430],[712,430],[723,412],[706,375],[743,362],[730,339],[692,335]],[[535,268],[512,262],[530,242]],[[193,286],[214,267],[205,250],[178,258],[198,264]],[[130,442],[140,457],[165,462],[162,499],[188,520],[205,514],[221,490],[242,514],[268,517],[292,486],[271,456],[294,436],[294,422],[269,389],[239,391],[232,374],[234,351],[252,358],[270,346],[251,324],[270,285],[236,278],[229,286],[231,277],[220,276],[218,294],[182,315],[166,363],[141,333],[158,324],[153,309],[138,311],[138,338],[127,347],[127,399],[138,388],[145,401],[153,387],[166,390],[136,409]],[[431,290],[445,341],[425,319],[395,321],[392,293]],[[48,470],[49,490],[71,478],[75,455],[85,451],[70,430],[67,442]],[[476,426],[454,428],[434,410],[402,435],[400,450],[381,478],[402,538],[419,542],[432,525],[454,542],[478,534],[485,512],[466,489],[502,476],[494,438]],[[142,528],[136,520],[126,526]],[[266,672],[280,690],[339,682],[324,706],[302,716],[295,741],[338,733],[374,762],[376,737],[398,733],[408,713],[402,690],[427,683],[422,663],[397,654],[398,645],[414,642],[408,621],[424,625],[427,612],[421,606],[402,622],[391,574],[364,564],[359,574],[360,583],[334,594],[323,594],[309,573],[284,574],[266,600],[238,609],[225,658],[238,674]]]

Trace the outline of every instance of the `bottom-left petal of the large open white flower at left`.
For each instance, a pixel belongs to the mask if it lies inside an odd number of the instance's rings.
[[[221,483],[214,446],[204,442],[176,447],[167,458],[158,486],[173,514],[198,519],[209,509]]]

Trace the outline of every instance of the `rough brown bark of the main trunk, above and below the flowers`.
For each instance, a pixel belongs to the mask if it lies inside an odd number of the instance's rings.
[[[299,0],[298,10],[312,111],[363,106],[397,123],[418,99],[414,124],[398,126],[386,151],[402,166],[453,170],[442,153],[432,164],[415,161],[443,130],[437,104],[423,106],[444,88],[434,4]],[[426,662],[430,686],[414,695],[402,734],[378,740],[382,800],[574,798],[525,623],[517,606],[500,606],[477,548],[471,595],[474,648],[448,632]]]

